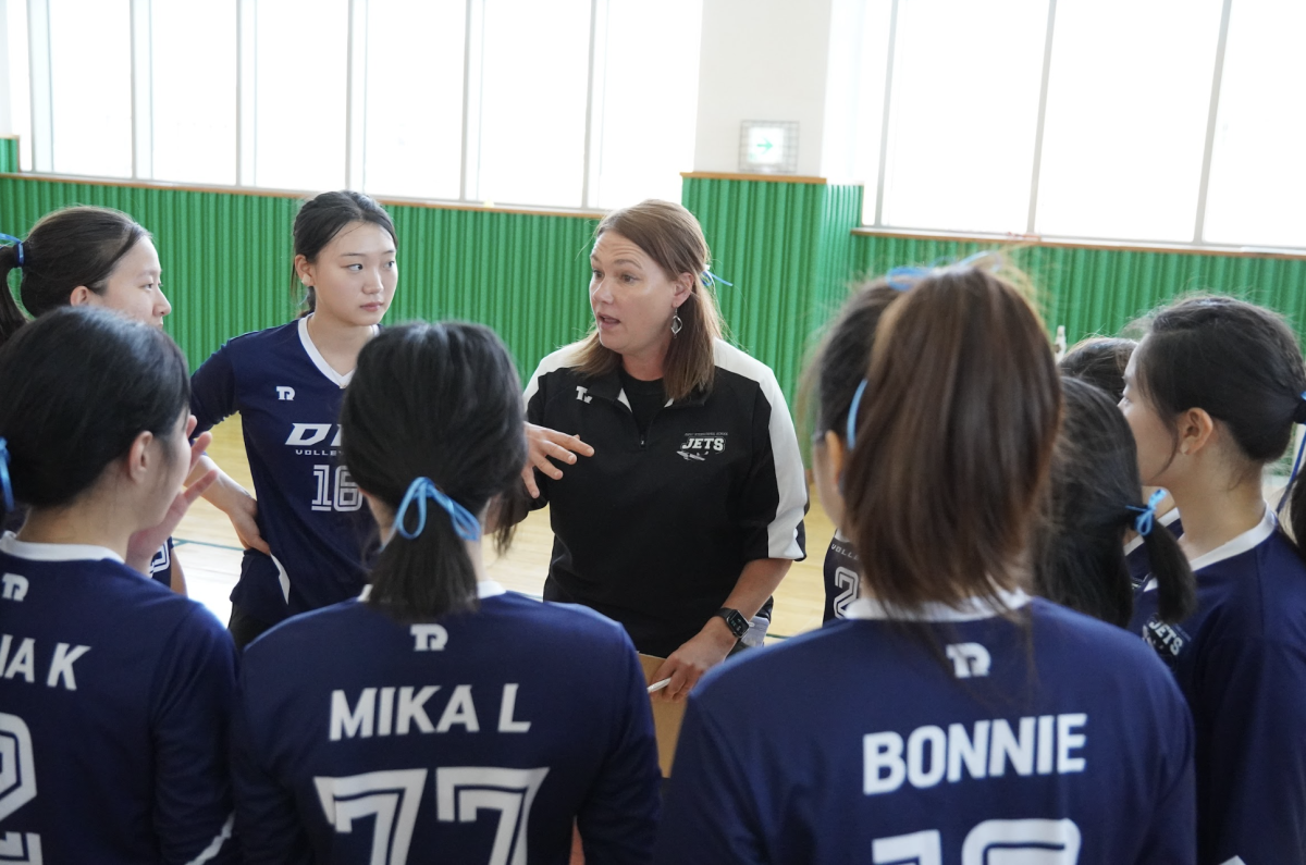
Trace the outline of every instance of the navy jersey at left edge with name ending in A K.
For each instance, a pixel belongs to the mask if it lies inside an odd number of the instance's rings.
[[[0,857],[230,862],[235,648],[95,546],[0,538]]]

